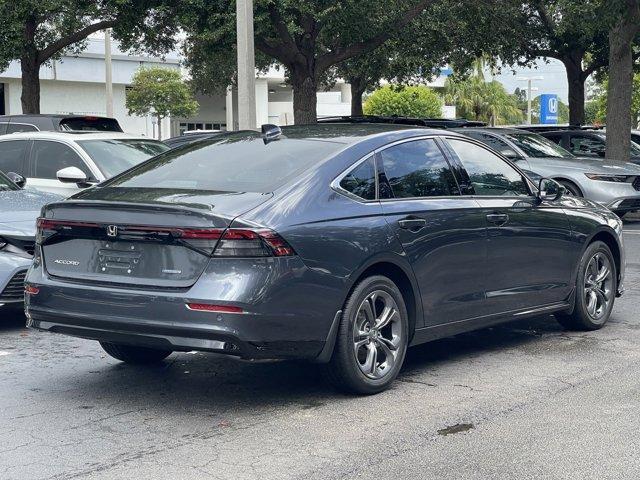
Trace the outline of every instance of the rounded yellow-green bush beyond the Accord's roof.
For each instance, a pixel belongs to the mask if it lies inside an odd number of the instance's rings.
[[[424,86],[403,87],[385,85],[373,92],[364,104],[367,115],[413,118],[439,118],[442,100]]]

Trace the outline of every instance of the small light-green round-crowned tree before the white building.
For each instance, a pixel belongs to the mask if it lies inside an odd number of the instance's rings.
[[[158,139],[162,138],[162,119],[189,117],[198,111],[198,102],[179,70],[141,68],[133,76],[127,92],[129,115],[153,115],[158,119]]]

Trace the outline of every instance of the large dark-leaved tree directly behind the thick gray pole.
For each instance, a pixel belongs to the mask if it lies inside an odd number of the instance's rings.
[[[432,6],[442,1],[256,0],[255,46],[261,54],[257,65],[265,67],[273,62],[284,65],[293,86],[296,123],[314,123],[316,91],[336,65],[366,55],[392,38],[400,38],[405,27],[418,17],[429,15]],[[463,3],[474,2],[463,0]],[[187,65],[196,85],[212,91],[232,83],[235,2],[185,0],[180,11],[187,33]],[[414,40],[403,38],[405,43]]]

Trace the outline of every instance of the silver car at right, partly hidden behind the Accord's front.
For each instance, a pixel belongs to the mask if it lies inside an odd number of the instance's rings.
[[[464,135],[480,140],[521,169],[552,178],[576,197],[585,197],[619,216],[640,210],[640,166],[604,165],[602,160],[576,157],[535,133],[509,128],[465,128]]]

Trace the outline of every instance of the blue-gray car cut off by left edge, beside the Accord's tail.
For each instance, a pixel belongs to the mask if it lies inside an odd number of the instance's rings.
[[[13,176],[20,182],[18,176]],[[23,190],[0,172],[0,318],[7,306],[22,308],[24,277],[33,259],[36,219],[46,203],[63,197]]]

